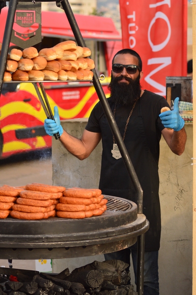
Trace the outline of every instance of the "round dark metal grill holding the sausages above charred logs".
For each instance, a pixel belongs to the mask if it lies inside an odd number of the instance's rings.
[[[60,259],[127,248],[149,223],[131,201],[105,196],[107,210],[84,219],[0,220],[0,259]]]

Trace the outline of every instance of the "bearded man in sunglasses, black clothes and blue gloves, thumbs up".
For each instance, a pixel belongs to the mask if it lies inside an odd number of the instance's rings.
[[[118,129],[143,190],[143,214],[149,221],[145,233],[144,295],[159,294],[158,251],[161,236],[161,210],[159,201],[159,142],[163,135],[169,148],[181,155],[185,148],[184,120],[179,116],[178,100],[173,111],[160,114],[168,106],[166,99],[148,90],[142,90],[142,62],[137,52],[123,49],[112,60],[109,89],[111,107]],[[121,154],[101,103],[92,110],[81,139],[69,135],[60,125],[55,107],[55,121],[44,122],[47,134],[59,132],[64,147],[80,160],[87,158],[102,140],[103,152],[99,188],[104,195],[121,197],[137,203],[136,191],[126,170]],[[168,129],[170,128],[170,129]],[[137,282],[137,246],[105,254],[105,259],[119,259],[130,266],[132,256]]]

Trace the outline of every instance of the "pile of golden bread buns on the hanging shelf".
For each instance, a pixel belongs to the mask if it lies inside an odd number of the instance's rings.
[[[8,55],[3,82],[92,80],[95,67],[87,47],[63,41],[39,52],[34,47],[13,48]]]

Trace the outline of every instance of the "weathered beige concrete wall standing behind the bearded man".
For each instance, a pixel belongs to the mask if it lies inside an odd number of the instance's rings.
[[[80,138],[86,120],[62,121],[68,133]],[[193,125],[186,124],[188,140],[185,152],[174,155],[161,139],[159,163],[162,236],[159,254],[160,294],[192,294],[192,199],[193,199]],[[102,146],[80,161],[53,139],[53,184],[65,187],[98,187]],[[84,266],[94,260],[104,261],[103,255],[76,259],[53,260],[53,272],[66,267]],[[134,278],[131,268],[131,277]],[[133,279],[132,279],[133,284]]]

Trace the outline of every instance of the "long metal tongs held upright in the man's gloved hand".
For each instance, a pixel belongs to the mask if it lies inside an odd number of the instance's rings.
[[[40,86],[41,92],[43,94],[43,97],[41,95],[40,90],[38,89],[37,83],[39,83],[39,86]],[[50,104],[49,104],[49,101],[48,101],[48,97],[46,95],[46,92],[45,92],[45,89],[43,87],[43,84],[41,82],[36,82],[36,83],[33,82],[32,84],[33,84],[33,86],[34,86],[34,88],[35,88],[35,90],[37,92],[38,98],[39,98],[40,103],[41,103],[41,105],[42,105],[42,107],[44,109],[44,112],[46,114],[46,117],[48,119],[52,119],[52,120],[55,121],[55,118],[53,116],[53,113],[52,113],[52,110],[51,110],[51,107],[50,107]],[[54,136],[55,136],[56,139],[59,139],[60,138],[59,132],[55,133]]]

